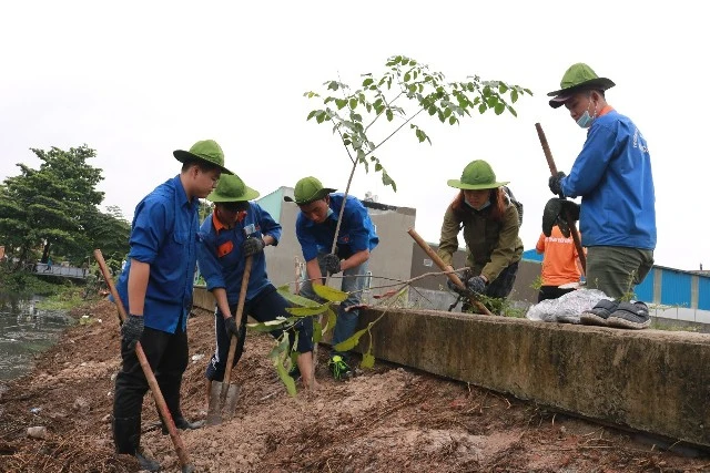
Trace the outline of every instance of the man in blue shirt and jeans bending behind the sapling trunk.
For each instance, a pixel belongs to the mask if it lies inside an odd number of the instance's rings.
[[[323,187],[321,181],[308,176],[296,183],[294,198],[284,197],[284,200],[295,202],[301,208],[296,219],[296,237],[306,260],[308,278],[301,289],[301,295],[315,299],[312,285],[323,284],[326,275],[343,273],[341,289],[349,296],[341,302],[338,309],[337,322],[333,330],[333,347],[355,333],[359,316],[356,306],[359,305],[365,287],[369,253],[379,243],[365,206],[353,196],[345,197],[343,194],[333,194],[334,192],[334,188]],[[335,228],[343,200],[345,208],[333,253]],[[332,350],[328,367],[335,379],[352,376],[346,352]]]

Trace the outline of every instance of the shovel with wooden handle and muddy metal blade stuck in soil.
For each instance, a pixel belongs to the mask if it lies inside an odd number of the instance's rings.
[[[248,277],[252,273],[252,256],[246,257],[244,264],[244,276],[242,276],[242,289],[240,290],[240,301],[236,305],[237,332],[242,326],[242,313],[244,312],[244,300],[246,299],[246,288],[248,286]],[[222,382],[212,381],[210,387],[210,404],[207,407],[207,425],[219,425],[224,419],[231,419],[236,410],[236,400],[240,394],[237,384],[230,384],[232,376],[232,363],[234,362],[234,353],[236,352],[237,339],[232,336],[230,342],[230,354],[226,358],[226,367],[224,369],[224,378]]]

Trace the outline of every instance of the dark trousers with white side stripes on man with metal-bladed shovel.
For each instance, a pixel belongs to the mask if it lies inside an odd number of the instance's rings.
[[[246,335],[246,316],[260,322],[267,322],[276,320],[276,317],[293,317],[286,311],[286,307],[291,307],[291,304],[284,299],[274,286],[266,286],[261,292],[256,295],[252,300],[244,302],[244,315],[242,317],[242,323],[240,327],[240,338],[236,342],[236,352],[234,353],[234,361],[232,367],[236,366],[236,362],[244,352],[244,337]],[[236,304],[230,306],[230,311],[234,313],[236,311]],[[300,353],[306,353],[313,350],[313,318],[304,317],[295,325],[295,330],[290,330],[290,345],[293,346],[294,338],[298,338],[296,350]],[[272,337],[278,338],[283,333],[283,330],[273,330]],[[211,381],[223,381],[224,370],[226,369],[226,358],[230,351],[230,337],[224,328],[224,315],[217,308],[214,312],[214,337],[217,343],[214,354],[210,359],[205,377]]]

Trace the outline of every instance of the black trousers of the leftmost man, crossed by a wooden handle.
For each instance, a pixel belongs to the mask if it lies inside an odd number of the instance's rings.
[[[168,333],[145,327],[141,346],[160,387],[173,419],[181,417],[180,387],[187,368],[187,335],[180,325],[175,333]],[[135,356],[121,341],[123,367],[115,378],[113,417],[115,419],[140,418],[143,397],[149,390],[148,380]]]

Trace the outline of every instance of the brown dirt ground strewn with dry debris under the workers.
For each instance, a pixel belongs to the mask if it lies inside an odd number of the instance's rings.
[[[74,326],[42,353],[33,372],[0,397],[0,471],[129,472],[138,463],[113,453],[110,429],[119,370],[113,305],[77,309],[101,323]],[[183,411],[204,419],[204,369],[213,350],[212,315],[189,322],[191,362]],[[460,382],[377,362],[347,382],[326,376],[321,389],[290,398],[266,358],[268,336],[247,337],[232,379],[242,385],[237,413],[219,426],[182,432],[199,472],[697,472],[708,453],[659,449],[648,438],[545,411]],[[146,395],[142,445],[163,471],[180,463]],[[45,439],[28,428],[45,426]]]

